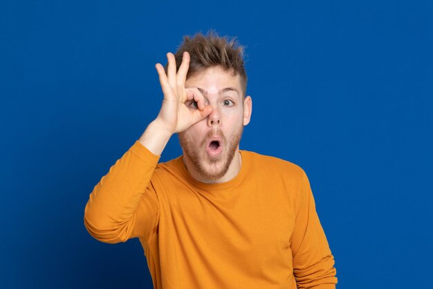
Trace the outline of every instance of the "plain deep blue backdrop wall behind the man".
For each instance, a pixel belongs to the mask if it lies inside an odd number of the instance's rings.
[[[1,1],[0,288],[152,288],[138,239],[94,240],[84,206],[158,114],[154,64],[210,28],[246,46],[241,148],[306,170],[338,287],[431,288],[432,19],[431,1]]]

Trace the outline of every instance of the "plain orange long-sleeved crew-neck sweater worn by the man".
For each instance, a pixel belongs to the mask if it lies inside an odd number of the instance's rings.
[[[136,141],[93,189],[84,224],[103,242],[140,238],[156,289],[335,288],[304,171],[241,156],[237,177],[203,184]]]

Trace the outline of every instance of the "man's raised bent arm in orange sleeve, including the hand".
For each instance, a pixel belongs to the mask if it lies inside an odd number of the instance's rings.
[[[158,225],[157,192],[150,181],[159,155],[172,134],[186,130],[212,112],[198,89],[185,89],[189,54],[183,54],[177,72],[174,55],[168,53],[167,58],[167,74],[161,64],[156,64],[164,93],[158,117],[102,177],[86,204],[84,225],[103,242],[125,242],[137,236],[149,238]],[[185,105],[192,100],[199,110],[190,110]]]

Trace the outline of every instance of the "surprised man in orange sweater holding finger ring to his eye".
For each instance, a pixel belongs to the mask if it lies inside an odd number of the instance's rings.
[[[167,59],[160,112],[93,189],[89,233],[140,238],[157,289],[335,288],[304,171],[239,150],[252,111],[241,46],[198,34]],[[158,164],[175,133],[183,156]]]

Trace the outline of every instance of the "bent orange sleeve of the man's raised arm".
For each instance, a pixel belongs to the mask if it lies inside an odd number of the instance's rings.
[[[93,189],[84,225],[105,243],[147,238],[158,225],[158,199],[150,184],[159,157],[136,141]]]

